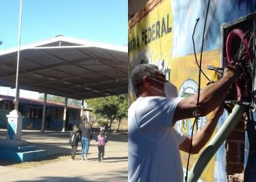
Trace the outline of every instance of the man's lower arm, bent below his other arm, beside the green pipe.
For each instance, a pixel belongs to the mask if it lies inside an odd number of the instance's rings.
[[[213,131],[219,121],[219,117],[223,113],[223,104],[217,107],[215,111],[213,111],[209,121],[207,121],[206,125],[198,131],[195,135],[193,135],[192,141],[192,149],[191,154],[197,154],[205,144],[210,140],[211,135],[213,135]],[[187,137],[182,144],[179,145],[179,150],[184,152],[190,151],[191,138]]]

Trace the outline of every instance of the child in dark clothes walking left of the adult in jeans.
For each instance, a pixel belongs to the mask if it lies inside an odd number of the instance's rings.
[[[69,139],[69,144],[71,146],[72,160],[74,160],[74,156],[77,152],[79,138],[80,138],[79,127],[77,127],[77,125],[74,125],[72,131],[70,131],[70,139]]]

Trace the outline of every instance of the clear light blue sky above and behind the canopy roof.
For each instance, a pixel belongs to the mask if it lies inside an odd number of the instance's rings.
[[[20,0],[0,0],[0,51],[18,46]],[[56,35],[127,46],[127,0],[22,0],[21,45]],[[0,88],[0,94],[15,90]],[[20,92],[38,98],[37,92]]]

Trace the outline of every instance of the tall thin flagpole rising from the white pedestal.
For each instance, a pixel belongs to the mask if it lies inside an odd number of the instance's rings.
[[[19,32],[18,32],[18,55],[17,55],[17,67],[16,67],[16,96],[14,100],[14,109],[18,111],[19,104],[19,95],[20,90],[18,90],[18,75],[19,75],[19,65],[20,65],[20,35],[21,35],[21,27],[22,27],[22,0],[20,0],[20,22],[19,22]]]

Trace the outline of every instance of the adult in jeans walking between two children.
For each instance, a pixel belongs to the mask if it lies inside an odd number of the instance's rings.
[[[81,160],[88,160],[87,154],[89,151],[90,141],[92,139],[93,133],[91,124],[89,123],[87,117],[82,117],[82,123],[79,125],[79,131],[81,133],[81,144],[82,144],[82,152],[81,152]]]

